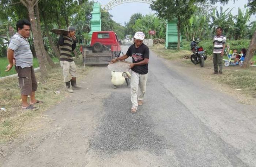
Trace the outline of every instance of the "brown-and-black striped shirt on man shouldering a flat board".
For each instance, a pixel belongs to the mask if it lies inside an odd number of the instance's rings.
[[[71,57],[71,54],[76,47],[76,42],[74,41],[73,43],[72,39],[67,35],[60,35],[59,45],[60,45],[60,61],[72,62],[73,59]]]

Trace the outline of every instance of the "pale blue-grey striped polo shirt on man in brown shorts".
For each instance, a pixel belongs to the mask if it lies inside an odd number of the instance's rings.
[[[12,36],[8,48],[14,51],[15,66],[22,68],[33,66],[33,54],[30,50],[29,42],[18,32]]]

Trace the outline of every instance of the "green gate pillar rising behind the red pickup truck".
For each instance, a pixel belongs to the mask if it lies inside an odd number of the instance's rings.
[[[100,3],[93,4],[93,11],[91,12],[91,31],[89,32],[89,37],[93,32],[101,31],[101,5]]]

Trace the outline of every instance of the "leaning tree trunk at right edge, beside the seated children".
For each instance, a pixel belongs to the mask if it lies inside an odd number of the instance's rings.
[[[252,57],[255,53],[255,49],[256,49],[256,30],[255,30],[255,32],[252,36],[249,48],[246,52],[246,56],[245,56],[244,63],[243,63],[243,66],[242,66],[243,69],[248,69],[250,67],[251,59],[252,59]]]

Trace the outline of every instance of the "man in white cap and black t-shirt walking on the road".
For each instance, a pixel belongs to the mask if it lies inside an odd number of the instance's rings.
[[[149,48],[143,43],[145,35],[143,32],[136,32],[132,38],[134,44],[128,48],[125,55],[119,58],[115,58],[111,61],[114,63],[118,60],[124,60],[128,57],[132,57],[132,69],[131,77],[131,101],[132,101],[132,113],[136,113],[138,105],[143,104],[144,95],[146,93],[147,73],[148,73],[148,60],[149,60]],[[140,94],[138,94],[138,85],[140,88]]]

